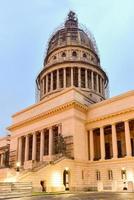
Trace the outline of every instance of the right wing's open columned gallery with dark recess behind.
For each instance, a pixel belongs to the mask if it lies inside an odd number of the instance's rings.
[[[88,131],[89,160],[134,156],[134,120],[104,125]]]

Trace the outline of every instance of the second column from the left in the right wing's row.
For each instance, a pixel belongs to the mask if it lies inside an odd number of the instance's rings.
[[[101,160],[105,159],[105,137],[104,128],[100,128],[100,147],[101,147]]]

